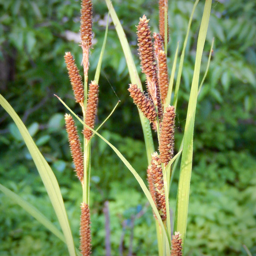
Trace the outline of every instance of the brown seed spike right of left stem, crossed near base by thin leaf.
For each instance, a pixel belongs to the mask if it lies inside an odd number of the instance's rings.
[[[89,92],[88,92],[87,106],[86,106],[85,120],[84,120],[84,123],[92,129],[94,128],[95,118],[97,114],[98,93],[99,93],[99,86],[95,81],[92,81],[89,84]],[[89,128],[84,127],[83,134],[84,134],[84,138],[89,140],[93,132]]]

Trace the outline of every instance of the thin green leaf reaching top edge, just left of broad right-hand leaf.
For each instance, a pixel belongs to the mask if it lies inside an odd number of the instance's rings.
[[[188,42],[188,34],[189,34],[190,27],[191,27],[192,18],[193,18],[194,12],[196,10],[196,5],[198,4],[198,2],[199,2],[199,0],[195,1],[191,15],[190,15],[189,22],[188,22],[187,34],[186,34],[186,37],[184,40],[183,49],[182,49],[181,56],[180,56],[180,65],[179,65],[179,69],[178,69],[176,86],[175,86],[175,91],[174,91],[174,98],[173,98],[173,106],[175,109],[177,107],[178,92],[180,89],[180,79],[181,79],[181,74],[182,74],[183,61],[184,61],[184,57],[185,57],[185,49],[186,49],[187,42]]]

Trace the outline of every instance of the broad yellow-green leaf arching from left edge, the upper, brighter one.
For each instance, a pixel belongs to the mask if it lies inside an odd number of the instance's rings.
[[[56,180],[56,177],[54,176],[54,173],[50,168],[49,164],[46,162],[45,158],[38,150],[38,147],[35,145],[33,139],[27,131],[27,128],[22,123],[19,116],[16,114],[11,105],[6,101],[6,99],[1,94],[0,104],[14,120],[15,124],[17,125],[20,131],[20,134],[22,135],[27,145],[27,148],[31,154],[31,157],[33,158],[35,165],[37,166],[39,175],[44,183],[45,189],[49,195],[50,201],[59,220],[66,244],[68,246],[69,255],[75,256],[76,253],[74,241],[68,223],[67,212],[65,211],[63,198],[61,196],[59,184]]]

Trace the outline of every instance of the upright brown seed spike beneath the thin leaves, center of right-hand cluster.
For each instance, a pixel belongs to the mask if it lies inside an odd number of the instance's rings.
[[[161,162],[167,165],[173,156],[174,145],[174,119],[175,109],[174,106],[166,108],[161,122],[159,152]]]

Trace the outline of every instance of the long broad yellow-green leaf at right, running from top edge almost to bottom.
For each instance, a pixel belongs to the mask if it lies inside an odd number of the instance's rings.
[[[184,145],[181,157],[180,178],[178,182],[178,193],[176,201],[176,214],[174,230],[179,231],[182,237],[183,248],[185,246],[185,237],[187,229],[187,217],[188,217],[188,199],[189,188],[192,171],[192,157],[193,157],[193,131],[195,124],[196,113],[196,100],[199,83],[200,65],[202,59],[202,53],[204,48],[204,42],[206,39],[206,33],[210,18],[211,0],[206,0],[204,5],[204,12],[202,22],[199,30],[197,48],[196,48],[196,60],[195,68],[192,79],[191,92],[188,102],[188,112],[184,130]]]

